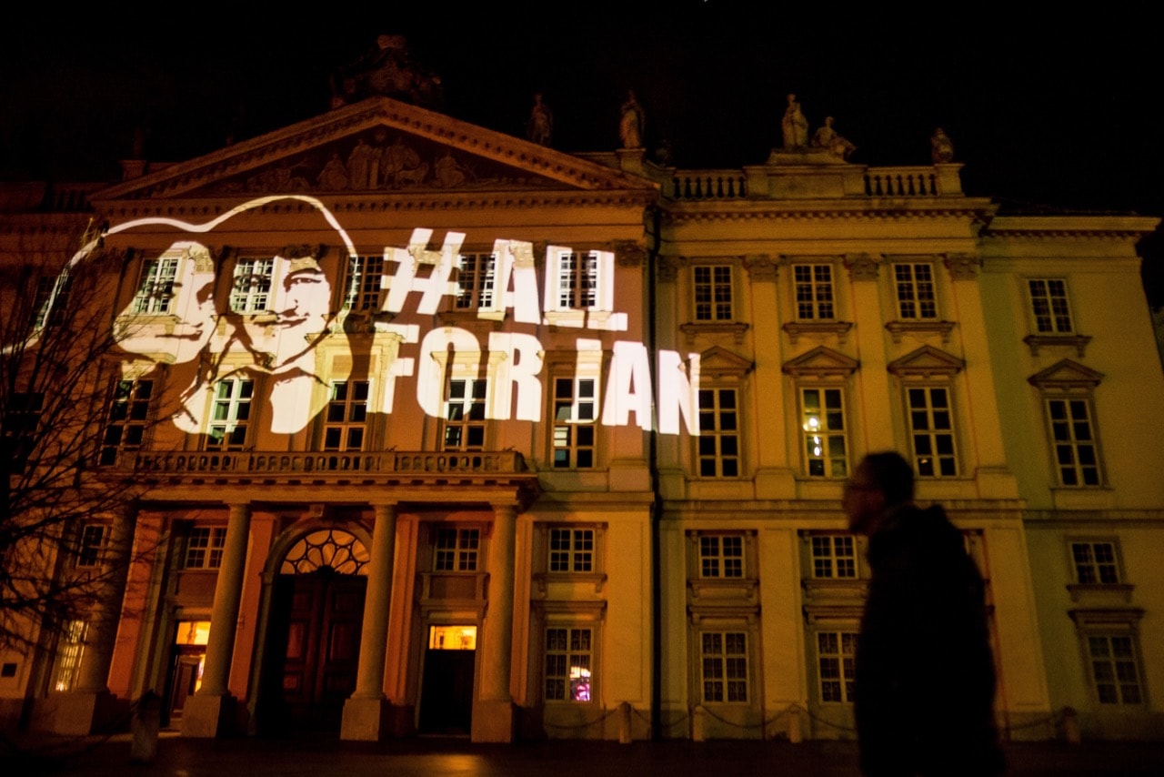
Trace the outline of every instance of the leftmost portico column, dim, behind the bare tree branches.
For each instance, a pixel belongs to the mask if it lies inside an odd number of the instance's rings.
[[[121,621],[121,601],[129,575],[136,522],[136,508],[128,508],[109,525],[109,539],[105,557],[101,559],[104,579],[93,584],[93,588],[90,589],[95,602],[85,634],[86,644],[77,672],[77,686],[70,693],[63,694],[57,702],[52,723],[52,730],[57,734],[91,734],[112,722],[118,715],[119,707],[128,702],[128,700],[119,702],[109,693],[108,681],[113,649],[118,640],[118,626]],[[84,598],[86,593],[84,589],[80,591],[78,599]]]

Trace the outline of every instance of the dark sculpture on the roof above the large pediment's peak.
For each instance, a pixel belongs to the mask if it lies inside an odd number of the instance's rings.
[[[442,97],[440,77],[412,61],[404,36],[381,35],[375,49],[332,75],[332,107],[377,96],[435,106]]]

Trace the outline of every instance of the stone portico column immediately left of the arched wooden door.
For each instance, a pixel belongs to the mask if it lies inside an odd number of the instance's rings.
[[[239,602],[250,537],[250,506],[232,504],[226,527],[222,566],[214,586],[211,633],[206,640],[203,686],[186,701],[182,714],[183,736],[219,736],[230,730],[234,699],[227,688],[234,636],[239,628]]]

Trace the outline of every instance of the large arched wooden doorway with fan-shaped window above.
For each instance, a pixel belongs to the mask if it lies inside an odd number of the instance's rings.
[[[356,685],[368,558],[342,529],[310,531],[288,551],[271,589],[263,733],[339,730]]]

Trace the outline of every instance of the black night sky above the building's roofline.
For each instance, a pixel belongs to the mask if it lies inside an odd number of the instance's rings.
[[[566,151],[616,148],[633,89],[646,144],[668,142],[676,165],[757,164],[781,143],[785,94],[795,92],[810,129],[835,116],[857,146],[853,162],[929,163],[941,126],[970,195],[1012,211],[1164,214],[1161,35],[1120,3],[1078,19],[1065,8],[1018,17],[1014,3],[909,14],[728,0],[477,2],[468,12],[243,5],[215,14],[215,3],[109,2],[7,21],[0,178],[113,181],[135,128],[147,158],[179,161],[318,115],[331,75],[393,34],[440,76],[445,113],[524,135],[541,91],[553,146]],[[1148,241],[1157,305],[1161,242],[1159,233]]]

